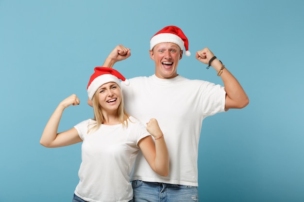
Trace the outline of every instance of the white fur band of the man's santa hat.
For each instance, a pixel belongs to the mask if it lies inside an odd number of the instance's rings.
[[[152,50],[153,47],[160,43],[174,43],[177,44],[181,48],[181,50],[184,49],[184,41],[176,34],[159,33],[153,36],[150,40],[150,50]]]

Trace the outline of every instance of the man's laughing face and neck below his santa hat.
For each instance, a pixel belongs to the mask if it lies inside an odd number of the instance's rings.
[[[155,75],[158,78],[177,76],[177,65],[183,51],[174,43],[160,43],[150,50],[150,58],[155,62]]]

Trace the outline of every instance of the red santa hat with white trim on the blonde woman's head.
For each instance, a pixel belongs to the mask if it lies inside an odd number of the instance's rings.
[[[121,88],[120,81],[125,81],[126,85],[129,85],[129,81],[126,80],[117,70],[109,67],[95,67],[94,74],[92,74],[89,83],[87,84],[87,94],[89,99],[92,100],[93,95],[99,87],[108,82],[115,82]]]

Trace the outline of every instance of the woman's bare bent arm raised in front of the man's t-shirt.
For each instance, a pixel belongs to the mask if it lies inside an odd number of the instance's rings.
[[[140,140],[138,146],[152,170],[159,175],[167,176],[169,174],[169,153],[163,132],[156,119],[150,119],[147,123],[147,130],[154,137],[155,144],[152,137],[148,136]]]

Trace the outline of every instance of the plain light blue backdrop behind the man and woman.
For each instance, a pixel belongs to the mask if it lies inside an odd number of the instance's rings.
[[[118,44],[132,51],[118,71],[152,75],[150,38],[168,25],[192,52],[179,74],[222,84],[194,57],[209,47],[250,98],[203,122],[200,201],[304,201],[303,0],[0,0],[0,202],[71,201],[81,144],[39,144],[51,113],[76,93],[59,130],[93,116],[88,79]]]

